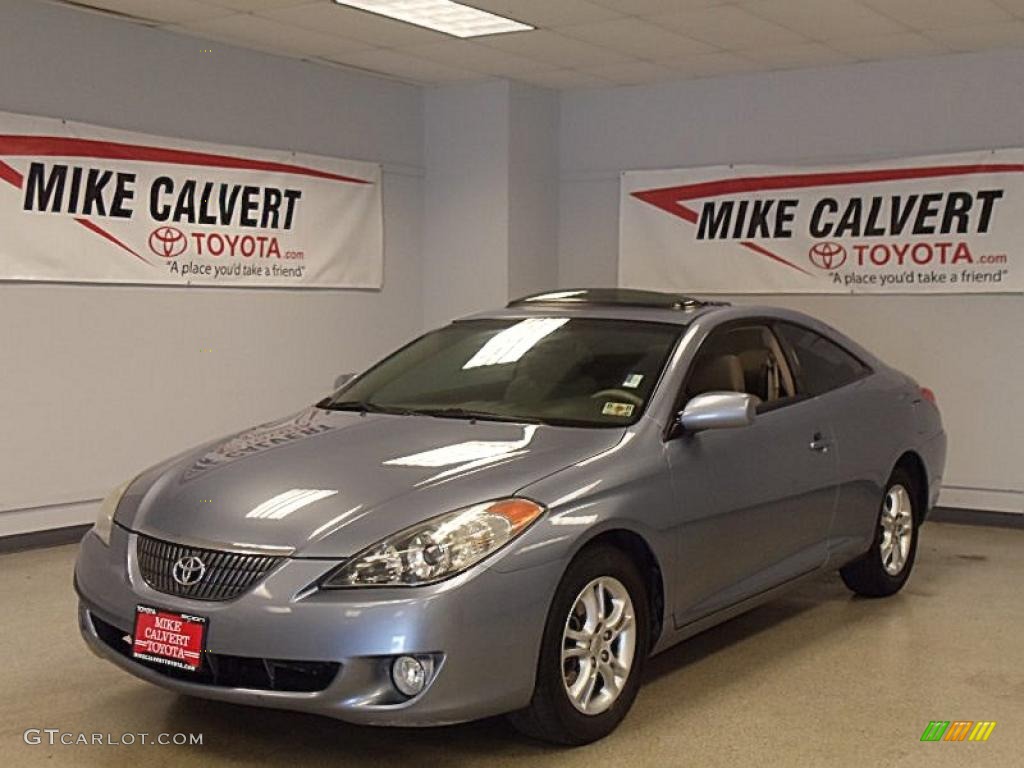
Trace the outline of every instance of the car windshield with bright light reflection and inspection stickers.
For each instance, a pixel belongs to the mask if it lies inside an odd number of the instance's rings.
[[[429,333],[321,408],[565,426],[633,424],[682,326],[617,319],[474,319]]]

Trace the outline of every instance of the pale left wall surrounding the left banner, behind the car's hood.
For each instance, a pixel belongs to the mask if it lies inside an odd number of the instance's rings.
[[[422,329],[422,90],[202,47],[0,0],[0,110],[382,163],[384,289],[0,283],[0,536],[89,520],[65,505],[297,410]]]

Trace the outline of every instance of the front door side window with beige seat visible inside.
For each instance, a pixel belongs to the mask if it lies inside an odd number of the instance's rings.
[[[793,376],[766,326],[727,326],[701,344],[686,379],[684,400],[715,391],[753,394],[763,406],[793,397]]]

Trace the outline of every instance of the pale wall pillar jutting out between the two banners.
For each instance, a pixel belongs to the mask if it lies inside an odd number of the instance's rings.
[[[426,92],[424,315],[437,326],[558,280],[558,95],[518,83]]]

